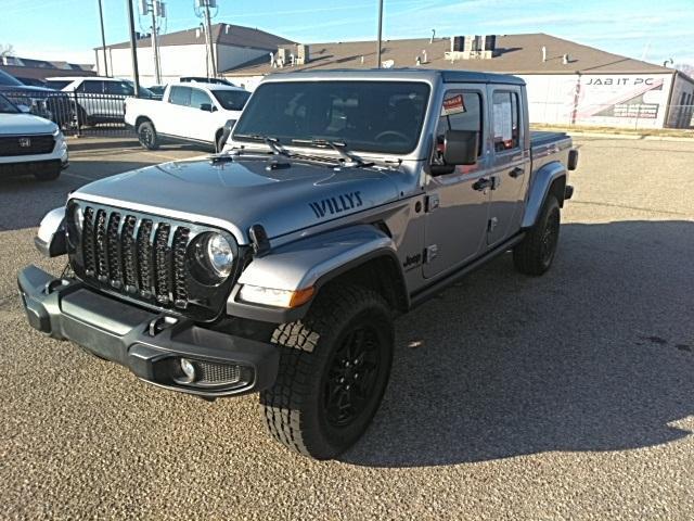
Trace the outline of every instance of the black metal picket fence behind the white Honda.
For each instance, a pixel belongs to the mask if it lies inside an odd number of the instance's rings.
[[[125,124],[127,96],[87,92],[0,92],[33,114],[55,122],[68,136],[134,136]]]

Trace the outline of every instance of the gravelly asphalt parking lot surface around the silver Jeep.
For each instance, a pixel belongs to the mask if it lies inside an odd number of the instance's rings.
[[[505,255],[398,319],[383,406],[326,462],[255,395],[160,391],[24,319],[17,270],[63,267],[34,249],[47,211],[204,151],[74,140],[59,181],[0,180],[1,517],[691,520],[694,142],[576,142],[552,270]]]

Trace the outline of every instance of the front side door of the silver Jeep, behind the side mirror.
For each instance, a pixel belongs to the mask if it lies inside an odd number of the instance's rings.
[[[432,162],[441,165],[446,130],[478,132],[476,165],[428,177],[424,277],[435,277],[472,260],[486,247],[490,188],[484,136],[484,88],[452,88],[444,97]]]

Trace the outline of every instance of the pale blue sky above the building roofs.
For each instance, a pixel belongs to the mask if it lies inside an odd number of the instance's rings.
[[[102,0],[106,42],[128,38],[127,0]],[[384,38],[548,33],[635,59],[694,65],[694,0],[384,0]],[[377,0],[217,0],[215,22],[295,41],[374,39]],[[193,0],[168,0],[166,30],[200,24]],[[134,2],[137,10],[137,0]],[[147,18],[136,30],[149,31]],[[17,55],[93,63],[98,0],[0,0],[0,43]]]

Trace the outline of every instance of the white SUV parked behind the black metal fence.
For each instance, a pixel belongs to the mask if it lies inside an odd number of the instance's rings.
[[[47,84],[68,93],[78,125],[123,123],[125,99],[134,96],[134,84],[129,79],[100,76],[52,77]],[[144,87],[140,96],[154,98]]]

